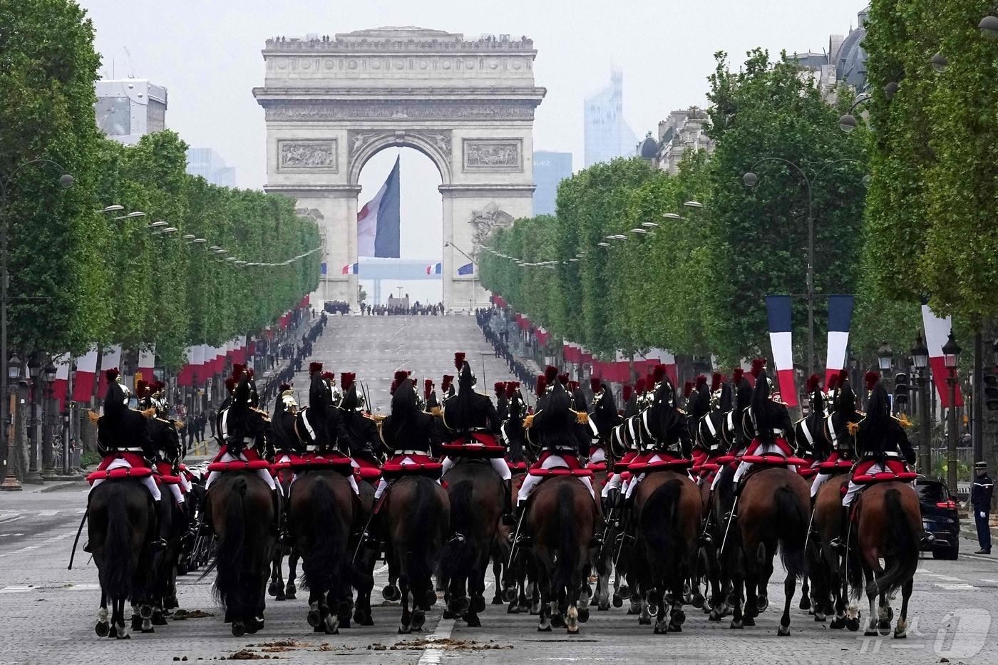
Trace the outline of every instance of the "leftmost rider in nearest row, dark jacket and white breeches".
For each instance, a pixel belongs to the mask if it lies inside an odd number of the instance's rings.
[[[156,460],[156,446],[152,438],[149,419],[155,414],[154,409],[143,411],[128,407],[130,392],[121,382],[121,373],[117,367],[105,371],[108,379],[108,390],[104,395],[104,414],[97,417],[91,413],[91,419],[97,422],[97,452],[104,457],[97,471],[113,471],[117,468],[153,468]],[[149,472],[146,471],[148,474]],[[163,495],[152,475],[139,479],[153,497],[156,514],[163,515],[169,506],[162,500]],[[94,490],[106,478],[92,481],[90,491]],[[169,519],[162,516],[159,519],[159,535],[151,544],[154,549],[164,549],[169,536]],[[90,543],[83,545],[85,552],[90,552]]]

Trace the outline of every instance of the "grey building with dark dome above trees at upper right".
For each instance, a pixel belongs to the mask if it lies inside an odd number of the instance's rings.
[[[840,85],[851,88],[857,94],[868,91],[868,56],[863,48],[868,12],[868,6],[859,12],[858,25],[850,28],[848,35],[829,35],[828,48],[824,53],[794,53],[792,56],[815,79],[821,96],[828,103],[835,101],[835,89]]]

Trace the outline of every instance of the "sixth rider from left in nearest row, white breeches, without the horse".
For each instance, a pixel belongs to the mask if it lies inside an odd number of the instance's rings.
[[[550,373],[550,372],[549,372]],[[576,425],[588,419],[585,411],[577,412],[572,409],[572,397],[565,390],[565,386],[557,379],[555,374],[554,386],[548,389],[548,382],[545,375],[537,377],[537,409],[533,415],[528,415],[524,422],[527,430],[527,438],[535,445],[539,445],[543,452],[537,461],[530,467],[531,471],[539,469],[552,469],[556,467],[568,468],[572,471],[582,469],[579,462],[579,443],[576,436]],[[590,472],[590,475],[592,473]],[[514,519],[519,521],[523,516],[527,499],[531,492],[541,482],[542,476],[527,473],[520,492],[516,498],[516,512]],[[587,476],[579,476],[579,480],[586,485],[593,500],[596,500],[596,492],[593,490],[593,483]]]

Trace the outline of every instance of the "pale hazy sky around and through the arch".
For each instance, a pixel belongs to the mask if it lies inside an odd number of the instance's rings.
[[[169,90],[167,126],[192,146],[214,148],[237,168],[241,187],[264,184],[263,110],[250,90],[263,83],[267,37],[333,35],[386,25],[463,33],[527,35],[536,84],[534,147],[583,160],[583,98],[611,66],[624,72],[624,115],[643,137],[673,109],[705,106],[714,53],[736,67],[761,46],[776,54],[827,49],[865,0],[79,0],[94,21],[106,76],[148,78]],[[112,72],[114,69],[114,72]],[[387,176],[397,151],[364,168],[361,205]],[[440,256],[440,177],[412,150],[402,158],[402,254]]]

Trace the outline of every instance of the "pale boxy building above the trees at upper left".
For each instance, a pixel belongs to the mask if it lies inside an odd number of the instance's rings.
[[[95,86],[97,127],[125,145],[167,127],[167,89],[146,79],[102,79]]]

